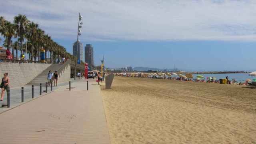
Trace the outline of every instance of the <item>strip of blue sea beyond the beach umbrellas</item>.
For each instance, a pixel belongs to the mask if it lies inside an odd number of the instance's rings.
[[[226,78],[228,76],[229,80],[232,80],[233,78],[237,82],[245,82],[247,79],[254,79],[256,76],[249,76],[249,73],[241,73],[241,74],[193,74],[194,79],[196,79],[196,76],[202,75],[206,79],[207,77],[215,77],[216,80]]]

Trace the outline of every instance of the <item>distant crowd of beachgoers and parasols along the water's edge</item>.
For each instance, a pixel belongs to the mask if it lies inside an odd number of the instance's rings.
[[[197,75],[196,78],[192,74],[176,74],[176,73],[114,73],[115,76],[123,77],[137,77],[137,78],[158,78],[165,80],[180,80],[180,81],[193,81],[193,82],[209,82],[218,84],[236,84],[236,85],[251,85],[251,80],[245,82],[237,82],[234,78],[230,80],[228,76],[223,79],[217,79],[215,77],[204,77]],[[254,81],[253,81],[254,82]],[[252,84],[253,85],[253,84]]]

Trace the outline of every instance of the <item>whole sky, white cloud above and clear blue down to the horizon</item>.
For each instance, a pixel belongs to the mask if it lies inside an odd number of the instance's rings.
[[[255,0],[2,0],[0,16],[39,24],[72,54],[78,13],[96,65],[256,70]],[[2,43],[0,43],[1,45]]]

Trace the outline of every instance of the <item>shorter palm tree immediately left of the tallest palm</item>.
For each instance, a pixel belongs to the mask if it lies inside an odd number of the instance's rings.
[[[5,21],[4,23],[4,30],[3,32],[1,32],[1,34],[4,36],[4,38],[6,38],[5,40],[5,46],[7,48],[10,48],[11,44],[12,44],[12,37],[15,36],[15,28],[14,28],[14,24]]]

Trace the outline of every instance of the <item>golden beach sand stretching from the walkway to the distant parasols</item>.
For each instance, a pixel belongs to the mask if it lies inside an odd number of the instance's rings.
[[[256,144],[256,89],[115,77],[102,95],[112,144]]]

